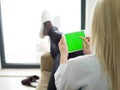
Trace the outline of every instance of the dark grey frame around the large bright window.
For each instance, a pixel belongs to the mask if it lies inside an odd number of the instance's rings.
[[[86,19],[86,0],[81,0],[81,30],[85,30],[85,19]],[[40,68],[39,63],[38,64],[6,63],[4,38],[2,32],[1,3],[0,3],[0,56],[2,68]]]

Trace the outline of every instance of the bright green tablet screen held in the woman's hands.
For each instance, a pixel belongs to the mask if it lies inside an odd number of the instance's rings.
[[[84,31],[78,31],[65,34],[66,44],[68,46],[68,52],[74,52],[82,50],[83,39],[80,36],[85,37]]]

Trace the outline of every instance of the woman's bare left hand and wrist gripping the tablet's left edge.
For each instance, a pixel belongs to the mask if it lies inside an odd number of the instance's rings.
[[[59,50],[60,50],[60,64],[67,63],[67,57],[68,57],[68,48],[66,46],[64,37],[61,37],[61,40],[58,43],[59,45]]]

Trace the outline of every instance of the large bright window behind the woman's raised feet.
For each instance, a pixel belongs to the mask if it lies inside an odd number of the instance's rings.
[[[38,67],[40,56],[49,51],[48,37],[39,38],[42,11],[49,10],[51,17],[60,16],[61,32],[79,31],[81,12],[85,12],[85,8],[81,10],[82,3],[80,0],[1,0],[3,67]]]

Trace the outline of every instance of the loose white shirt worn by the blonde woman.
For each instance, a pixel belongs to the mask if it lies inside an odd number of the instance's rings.
[[[57,90],[109,90],[95,54],[72,58],[55,73]]]

